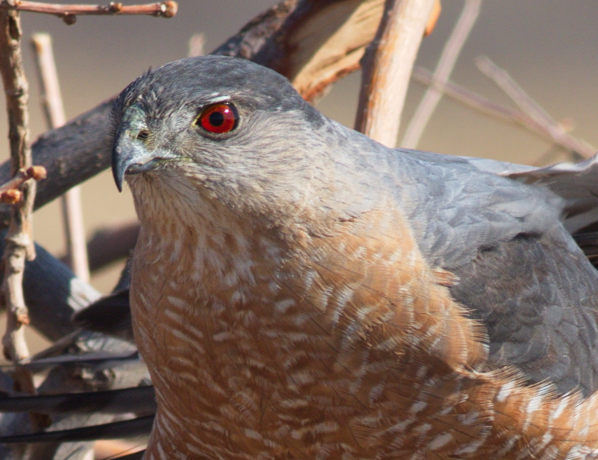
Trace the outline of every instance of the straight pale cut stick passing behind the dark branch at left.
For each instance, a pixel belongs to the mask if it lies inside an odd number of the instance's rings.
[[[39,82],[42,89],[42,105],[48,127],[54,129],[66,123],[62,105],[58,74],[54,64],[52,39],[48,33],[35,33],[32,37],[33,52],[37,59]],[[62,215],[65,223],[66,254],[69,265],[81,281],[89,283],[87,242],[81,207],[81,187],[71,188],[61,198]]]

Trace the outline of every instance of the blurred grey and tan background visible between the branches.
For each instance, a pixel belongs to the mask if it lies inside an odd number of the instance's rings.
[[[72,26],[65,25],[56,17],[22,13],[22,25],[25,42],[34,32],[49,32],[53,37],[66,114],[72,118],[117,94],[149,67],[185,57],[188,40],[194,33],[205,35],[205,51],[209,53],[255,15],[275,3],[273,0],[179,0],[178,14],[172,19],[79,16]],[[423,40],[417,65],[431,70],[435,68],[462,7],[463,2],[459,0],[443,1],[437,27],[431,36]],[[507,69],[554,118],[572,124],[575,136],[598,146],[598,92],[595,87],[598,76],[597,17],[598,2],[595,1],[486,0],[451,80],[509,105],[508,99],[475,67],[475,57],[489,56]],[[30,84],[32,140],[35,140],[46,127],[29,46],[25,47],[25,66]],[[353,74],[337,83],[319,102],[319,108],[329,117],[352,126],[359,79],[359,74]],[[420,84],[411,84],[403,127],[413,114],[423,90]],[[0,104],[4,105],[4,93],[0,94]],[[6,115],[2,110],[0,133],[7,132]],[[7,134],[2,136],[7,138]],[[449,99],[443,99],[438,106],[418,147],[446,154],[493,157],[530,164],[550,150],[547,142],[463,108]],[[4,161],[7,157],[8,141],[2,141],[0,160]],[[118,194],[108,171],[86,182],[82,194],[88,236],[100,227],[135,219],[129,191]],[[55,255],[62,255],[65,246],[60,216],[57,203],[50,203],[35,215],[35,239]],[[115,264],[95,273],[92,284],[108,293],[121,268],[122,264]]]

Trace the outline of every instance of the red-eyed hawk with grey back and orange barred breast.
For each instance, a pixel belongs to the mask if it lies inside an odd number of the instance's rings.
[[[113,120],[145,458],[598,458],[598,272],[559,186],[384,147],[230,57]]]

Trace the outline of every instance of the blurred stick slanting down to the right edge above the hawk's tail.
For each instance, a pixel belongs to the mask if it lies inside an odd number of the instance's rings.
[[[476,64],[478,69],[504,91],[521,111],[529,115],[529,117],[531,117],[535,123],[545,131],[554,143],[559,145],[566,143],[569,145],[568,149],[570,151],[586,158],[593,154],[594,150],[590,145],[583,141],[578,141],[578,139],[569,135],[562,124],[554,120],[554,118],[548,115],[535,100],[530,98],[530,96],[509,76],[507,71],[501,69],[487,57],[479,57],[476,59]],[[591,152],[590,155],[587,155],[588,150]]]

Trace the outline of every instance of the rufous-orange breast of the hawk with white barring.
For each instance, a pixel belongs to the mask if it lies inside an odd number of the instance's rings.
[[[328,237],[297,229],[292,247],[209,217],[144,222],[135,250],[136,340],[158,401],[148,458],[596,455],[597,401],[573,410],[576,395],[475,370],[483,331],[398,212]]]

